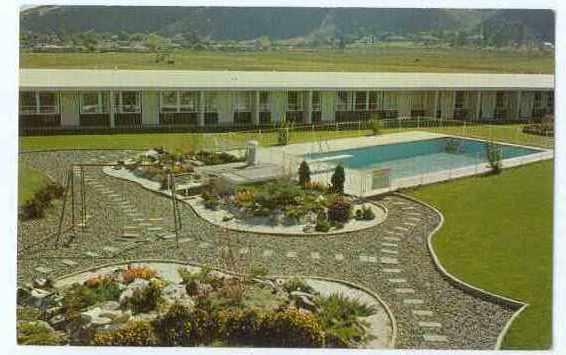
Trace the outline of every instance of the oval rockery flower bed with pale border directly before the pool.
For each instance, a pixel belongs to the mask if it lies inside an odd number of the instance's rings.
[[[384,216],[373,204],[355,202],[332,186],[311,181],[301,185],[279,180],[239,186],[234,192],[224,193],[211,189],[201,197],[200,204],[192,204],[202,217],[254,231],[261,227],[266,228],[265,232],[286,230],[290,234],[349,231],[355,230],[356,224],[363,227],[379,223]]]

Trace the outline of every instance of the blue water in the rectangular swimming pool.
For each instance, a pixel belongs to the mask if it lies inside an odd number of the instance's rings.
[[[473,139],[435,138],[327,153],[306,154],[311,159],[342,157],[342,165],[350,169],[391,169],[391,178],[402,178],[448,169],[463,168],[487,162],[486,143]],[[540,150],[497,144],[503,159],[540,153]]]

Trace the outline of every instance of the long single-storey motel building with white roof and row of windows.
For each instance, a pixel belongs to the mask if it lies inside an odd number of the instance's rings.
[[[21,69],[23,131],[254,127],[415,117],[531,121],[554,76]],[[202,128],[201,128],[202,127]]]

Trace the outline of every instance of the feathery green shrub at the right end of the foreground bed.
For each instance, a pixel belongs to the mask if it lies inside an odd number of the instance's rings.
[[[374,307],[341,294],[319,297],[317,304],[327,346],[353,347],[369,340],[366,324],[358,318],[375,314]]]

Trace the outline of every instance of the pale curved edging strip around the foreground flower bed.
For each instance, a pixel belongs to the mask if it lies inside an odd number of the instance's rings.
[[[124,266],[124,265],[135,264],[135,263],[140,263],[140,264],[143,264],[143,263],[148,263],[148,264],[149,263],[169,263],[169,264],[178,264],[178,265],[193,266],[193,267],[200,267],[200,268],[203,268],[204,266],[206,266],[206,267],[209,267],[210,270],[216,270],[216,271],[219,271],[219,272],[222,272],[222,273],[226,273],[228,275],[233,275],[233,276],[236,276],[236,277],[245,276],[244,274],[238,274],[236,272],[225,270],[225,269],[222,269],[222,268],[219,268],[219,267],[213,267],[213,266],[208,266],[208,265],[199,264],[199,263],[186,262],[186,261],[181,261],[181,260],[177,260],[177,259],[134,259],[134,260],[128,260],[128,261],[106,263],[106,264],[102,264],[102,265],[98,265],[98,266],[93,266],[93,267],[90,267],[90,268],[87,268],[87,269],[75,271],[75,272],[72,272],[70,274],[66,274],[66,275],[57,277],[54,280],[54,284],[56,285],[57,282],[60,282],[60,281],[66,279],[66,278],[69,278],[69,277],[78,276],[78,275],[83,274],[83,273],[94,272],[96,270],[103,269],[103,268],[118,267],[118,266]],[[314,279],[314,280],[321,280],[321,281],[329,281],[329,282],[335,282],[335,283],[338,283],[338,284],[341,284],[341,285],[344,285],[344,286],[347,286],[347,287],[351,287],[353,289],[367,293],[368,295],[373,297],[375,300],[377,300],[377,302],[379,304],[381,304],[383,309],[385,309],[385,312],[387,313],[389,320],[391,321],[391,338],[389,339],[389,341],[387,341],[387,344],[388,344],[389,347],[386,348],[385,350],[395,349],[395,344],[397,342],[397,334],[398,334],[397,320],[395,319],[395,316],[393,315],[393,312],[391,311],[391,309],[389,308],[387,303],[385,303],[385,301],[383,301],[381,299],[381,297],[379,297],[379,295],[377,295],[377,293],[369,290],[368,288],[366,288],[364,286],[355,284],[353,282],[341,280],[341,279],[330,278],[330,277],[310,276],[310,275],[266,275],[266,277],[276,278],[276,279],[289,279],[289,278],[298,277],[298,278],[302,278],[302,279]],[[366,349],[366,350],[372,350],[372,349]],[[375,350],[377,350],[377,349],[375,349]]]

